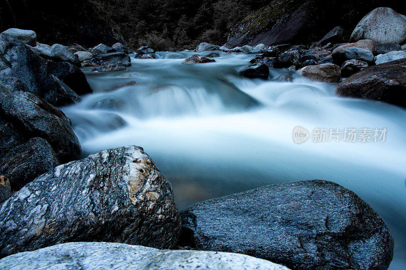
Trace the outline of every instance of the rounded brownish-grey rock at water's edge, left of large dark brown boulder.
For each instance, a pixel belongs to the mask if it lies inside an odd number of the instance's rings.
[[[303,67],[301,74],[317,82],[338,83],[341,70],[339,66],[334,64],[320,64]]]

